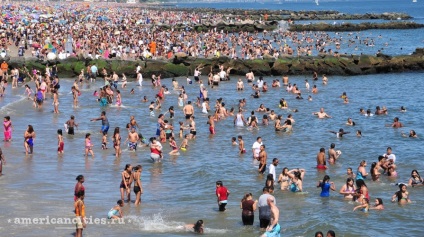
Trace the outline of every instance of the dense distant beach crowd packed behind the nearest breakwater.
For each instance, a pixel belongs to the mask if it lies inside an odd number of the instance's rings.
[[[110,3],[108,3],[110,4]],[[192,27],[219,21],[241,22],[246,15],[196,11],[128,8],[125,5],[73,3],[55,6],[9,4],[0,25],[1,50],[5,55],[48,58],[173,58],[227,56],[262,59],[318,54],[360,54],[369,47],[375,53],[388,46],[381,35],[325,32],[227,32],[216,28],[198,32]],[[166,25],[167,27],[164,27]],[[186,27],[178,28],[178,25]],[[170,28],[170,29],[169,29]],[[27,53],[25,53],[27,52]]]

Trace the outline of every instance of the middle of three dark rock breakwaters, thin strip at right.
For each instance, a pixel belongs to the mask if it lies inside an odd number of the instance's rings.
[[[359,24],[343,23],[343,24],[293,24],[290,25],[290,31],[363,31],[370,29],[418,29],[423,28],[424,24],[415,22],[393,21],[385,23],[363,22]]]

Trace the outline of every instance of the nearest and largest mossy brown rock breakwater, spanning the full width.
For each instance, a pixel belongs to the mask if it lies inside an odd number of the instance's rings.
[[[44,70],[48,62],[41,62],[34,58],[10,58],[8,63],[11,67],[22,67],[25,64],[28,69]],[[82,69],[91,64],[96,64],[99,71],[106,68],[108,71],[125,73],[130,77],[135,77],[135,68],[141,65],[143,76],[146,78],[152,74],[161,74],[162,78],[192,76],[194,69],[199,65],[203,66],[202,75],[207,75],[211,68],[214,72],[218,71],[219,65],[224,65],[225,68],[231,67],[231,74],[239,76],[244,76],[250,70],[258,76],[311,75],[314,71],[328,75],[362,75],[423,71],[424,49],[416,49],[411,55],[393,57],[383,54],[339,57],[320,55],[274,59],[266,56],[264,59],[233,60],[227,57],[193,58],[182,55],[172,60],[123,61],[68,58],[57,63],[59,75],[62,77],[77,76]]]

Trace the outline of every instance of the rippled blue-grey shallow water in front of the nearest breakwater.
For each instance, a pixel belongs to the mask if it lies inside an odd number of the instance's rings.
[[[108,106],[101,108],[92,96],[92,92],[101,86],[101,82],[84,84],[79,98],[81,105],[72,108],[72,96],[69,94],[71,80],[61,80],[60,106],[61,113],[53,114],[52,99],[45,102],[43,109],[34,109],[32,103],[23,98],[23,88],[7,88],[6,97],[0,100],[2,115],[12,118],[15,130],[13,141],[3,143],[2,149],[7,159],[4,166],[4,175],[0,177],[2,195],[0,195],[0,229],[7,230],[11,236],[40,236],[47,231],[48,236],[69,236],[74,232],[73,225],[50,224],[16,224],[15,218],[64,218],[73,217],[73,188],[75,177],[85,176],[86,213],[92,218],[104,218],[107,211],[119,199],[120,172],[126,163],[142,164],[143,188],[141,207],[134,204],[126,205],[124,215],[125,224],[91,224],[84,231],[87,236],[186,236],[190,235],[181,226],[203,219],[208,236],[258,236],[258,219],[254,227],[243,227],[239,201],[246,192],[252,192],[255,198],[261,194],[265,177],[257,174],[256,166],[251,160],[250,146],[257,136],[262,136],[267,146],[268,163],[278,157],[280,164],[278,172],[285,166],[289,168],[305,168],[305,194],[293,194],[276,190],[275,196],[280,208],[280,224],[285,236],[312,236],[315,231],[334,229],[338,236],[387,236],[401,234],[408,231],[410,236],[420,236],[422,228],[411,222],[422,220],[420,209],[424,198],[420,188],[409,188],[412,204],[398,206],[390,203],[390,198],[397,186],[397,182],[407,182],[412,169],[422,171],[421,158],[422,138],[410,139],[401,136],[401,131],[408,132],[414,129],[418,136],[424,133],[421,119],[424,112],[420,104],[423,103],[421,88],[423,73],[403,73],[368,75],[355,77],[329,77],[329,84],[323,86],[317,82],[319,93],[312,95],[313,101],[306,98],[310,93],[305,91],[304,80],[309,77],[290,77],[290,82],[299,85],[303,91],[304,100],[296,100],[294,95],[287,93],[283,88],[270,88],[263,97],[251,99],[252,90],[247,88],[243,92],[235,91],[235,79],[222,82],[218,88],[209,88],[209,96],[213,105],[215,99],[222,97],[226,107],[237,106],[238,99],[246,98],[247,112],[256,109],[261,103],[274,109],[284,117],[290,111],[278,108],[280,98],[285,98],[290,109],[298,109],[293,113],[296,123],[290,134],[276,133],[273,125],[261,126],[259,130],[249,131],[246,128],[233,127],[233,119],[216,123],[216,132],[210,136],[206,126],[206,115],[196,109],[196,124],[198,136],[189,142],[189,150],[181,152],[178,157],[165,155],[163,163],[152,164],[149,151],[141,148],[137,152],[128,152],[125,145],[122,157],[116,160],[114,151],[101,150],[98,134],[100,122],[90,122],[90,118],[100,115],[104,109],[107,112],[112,136],[114,127],[121,127],[123,139],[127,136],[124,129],[130,115],[135,115],[141,125],[141,132],[145,137],[155,134],[156,118],[148,115],[148,103],[141,103],[140,99],[146,95],[153,99],[157,89],[153,89],[145,81],[140,89],[135,83],[129,83],[122,89],[123,108]],[[265,81],[271,84],[272,79]],[[281,78],[279,78],[281,79]],[[185,85],[185,79],[178,79],[180,85]],[[168,79],[163,83],[171,87]],[[310,80],[311,87],[313,83]],[[30,84],[32,87],[33,85]],[[198,95],[198,85],[185,85],[189,99],[195,101]],[[136,93],[130,95],[131,88]],[[339,96],[347,92],[350,103],[343,104]],[[176,118],[171,120],[178,130],[178,121],[184,121],[181,108],[177,106],[178,94],[172,91],[166,97],[160,113],[167,111],[169,106],[176,108]],[[389,115],[363,117],[359,109],[375,106],[387,106]],[[406,113],[400,113],[400,106],[407,108]],[[320,107],[325,107],[331,119],[319,120],[311,115]],[[159,111],[156,111],[156,115]],[[65,135],[65,154],[58,157],[56,154],[56,131],[63,129],[63,123],[75,115],[80,124],[74,137]],[[168,117],[169,115],[166,115]],[[259,113],[259,117],[262,115]],[[394,117],[399,117],[405,127],[392,129],[385,127]],[[355,127],[348,127],[345,122],[351,117]],[[23,148],[23,133],[28,124],[32,124],[37,133],[35,152],[25,156]],[[273,123],[271,123],[273,124]],[[336,138],[329,130],[343,128],[352,134],[342,139]],[[362,130],[363,137],[355,136],[356,130]],[[94,146],[95,157],[84,158],[84,135],[90,132]],[[237,154],[237,147],[231,145],[233,136],[242,135],[248,153],[242,156]],[[343,154],[336,165],[332,165],[325,173],[315,168],[315,157],[320,147],[329,148],[330,143],[336,144]],[[177,138],[180,144],[180,139]],[[163,144],[165,153],[170,151],[168,144]],[[335,182],[336,189],[345,182],[345,170],[352,167],[356,170],[360,160],[368,162],[369,169],[378,155],[386,151],[387,146],[393,148],[397,155],[399,177],[390,180],[383,177],[381,182],[367,181],[371,199],[381,197],[385,202],[386,210],[371,211],[369,214],[352,212],[353,203],[343,200],[336,192],[329,199],[319,197],[320,189],[315,187],[316,182],[325,174]],[[225,213],[217,211],[215,197],[215,181],[222,180],[231,191],[228,210]],[[133,194],[132,194],[133,195]],[[7,223],[11,219],[12,223]],[[131,222],[131,223],[130,223]],[[358,228],[361,226],[361,228]],[[387,228],[390,226],[390,228]],[[363,230],[368,230],[364,234]]]

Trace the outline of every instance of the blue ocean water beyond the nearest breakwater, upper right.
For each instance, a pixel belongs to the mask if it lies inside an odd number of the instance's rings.
[[[242,5],[241,5],[242,4]],[[177,7],[181,8],[243,8],[243,9],[270,9],[270,10],[309,10],[309,11],[324,11],[335,10],[346,14],[365,14],[365,13],[385,13],[385,12],[402,12],[407,13],[413,19],[405,21],[413,21],[416,23],[424,24],[424,10],[423,1],[413,3],[412,1],[320,1],[317,6],[314,1],[281,1],[280,2],[230,2],[230,3],[178,3]],[[396,20],[403,21],[403,20]],[[328,24],[342,24],[342,23],[360,23],[360,22],[388,22],[385,20],[304,20],[296,21],[297,24],[310,24],[321,23]],[[405,29],[405,30],[366,30],[362,32],[327,32],[332,39],[338,39],[341,42],[342,48],[336,49],[334,44],[327,45],[326,49],[332,49],[342,54],[376,54],[378,50],[387,55],[408,55],[415,51],[416,48],[424,47],[424,28],[420,29]],[[277,33],[278,34],[278,33]],[[316,38],[317,32],[306,32],[306,36]],[[298,38],[303,35],[299,34]],[[373,46],[358,44],[359,40],[373,40]],[[269,38],[269,37],[268,37]],[[273,38],[273,37],[272,37]],[[277,39],[281,37],[277,35]],[[290,38],[283,38],[283,40],[292,47],[297,47],[297,44],[292,44]],[[348,46],[349,40],[356,43]],[[303,42],[301,46],[311,45]],[[274,47],[279,47],[273,44]],[[314,52],[316,55],[316,52]]]

